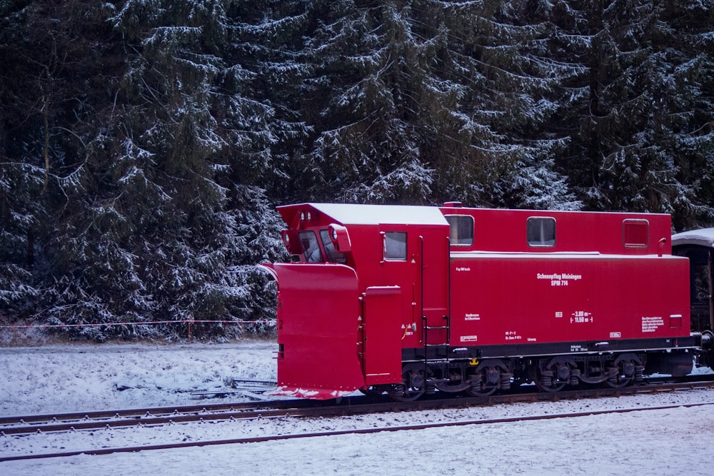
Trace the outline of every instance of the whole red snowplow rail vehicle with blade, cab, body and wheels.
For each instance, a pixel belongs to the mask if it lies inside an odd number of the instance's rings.
[[[278,211],[293,255],[266,265],[278,281],[279,395],[620,387],[710,357],[711,315],[693,332],[690,260],[672,254],[668,215]]]

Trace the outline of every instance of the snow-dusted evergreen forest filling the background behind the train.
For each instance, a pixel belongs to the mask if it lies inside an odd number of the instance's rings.
[[[270,331],[286,203],[714,224],[714,0],[0,0],[0,61],[0,325]]]

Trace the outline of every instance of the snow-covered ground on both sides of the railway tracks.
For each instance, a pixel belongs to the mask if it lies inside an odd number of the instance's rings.
[[[242,401],[245,398],[238,395],[213,399],[191,392],[226,390],[226,383],[234,378],[275,380],[276,350],[277,345],[269,340],[222,345],[2,347],[0,414]],[[288,417],[56,435],[0,435],[0,456],[9,456],[608,408],[644,410],[538,422],[0,462],[0,475],[708,475],[714,405],[684,406],[708,402],[714,402],[713,390],[315,420]],[[645,410],[672,404],[681,406]]]

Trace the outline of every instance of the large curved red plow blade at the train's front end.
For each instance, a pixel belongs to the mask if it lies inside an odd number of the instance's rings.
[[[274,264],[278,280],[278,390],[327,399],[363,388],[357,275],[344,265]]]

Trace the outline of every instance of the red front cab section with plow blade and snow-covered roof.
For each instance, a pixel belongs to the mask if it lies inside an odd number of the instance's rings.
[[[402,348],[446,343],[449,225],[436,207],[278,207],[278,390],[333,398],[402,380]],[[310,369],[306,372],[306,369]]]

